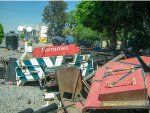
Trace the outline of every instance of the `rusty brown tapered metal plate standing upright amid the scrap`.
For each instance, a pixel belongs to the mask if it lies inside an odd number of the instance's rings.
[[[82,90],[80,69],[60,67],[56,73],[61,98],[74,100]]]

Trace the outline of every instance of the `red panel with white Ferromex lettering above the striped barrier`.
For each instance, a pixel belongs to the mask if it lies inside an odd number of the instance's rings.
[[[34,57],[62,56],[62,55],[77,54],[79,52],[80,49],[76,47],[75,44],[61,45],[61,46],[46,46],[34,48],[33,56]]]

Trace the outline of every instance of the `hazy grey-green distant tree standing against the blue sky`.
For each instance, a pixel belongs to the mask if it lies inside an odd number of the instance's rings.
[[[67,2],[49,1],[44,8],[43,22],[48,25],[48,35],[62,35],[66,22]]]

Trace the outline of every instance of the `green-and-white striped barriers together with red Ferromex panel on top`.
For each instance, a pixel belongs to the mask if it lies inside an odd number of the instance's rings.
[[[87,76],[97,69],[92,55],[79,54],[79,48],[75,44],[35,48],[33,56],[34,58],[17,61],[15,71],[18,85],[51,77],[53,86],[57,68],[64,65],[80,68],[82,76]]]

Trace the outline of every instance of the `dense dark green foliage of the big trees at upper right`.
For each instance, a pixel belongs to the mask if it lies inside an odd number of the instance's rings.
[[[140,40],[143,44],[150,37],[150,2],[82,1],[77,6],[77,20],[85,27],[102,32],[110,40],[111,48],[116,48],[117,40],[126,47],[127,40]],[[143,31],[142,35],[138,31]],[[134,37],[129,37],[130,34]],[[138,37],[146,38],[139,39]],[[131,38],[131,39],[130,39]],[[132,41],[131,41],[132,40]],[[137,44],[137,45],[136,45]],[[136,47],[138,43],[134,44]],[[143,48],[148,47],[144,45]]]

